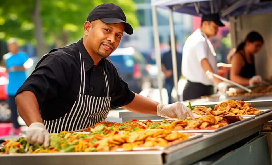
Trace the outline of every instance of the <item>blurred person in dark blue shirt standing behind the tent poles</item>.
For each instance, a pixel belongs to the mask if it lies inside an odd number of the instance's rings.
[[[169,46],[170,39],[169,39]],[[176,50],[178,48],[178,43],[176,43]],[[177,58],[177,78],[181,76],[181,59],[182,54],[176,51],[176,58]],[[173,77],[173,65],[172,65],[172,52],[171,49],[168,52],[165,52],[161,58],[161,68],[165,76],[165,88],[167,89],[168,94],[168,104],[172,103],[172,89],[174,87],[174,77]]]

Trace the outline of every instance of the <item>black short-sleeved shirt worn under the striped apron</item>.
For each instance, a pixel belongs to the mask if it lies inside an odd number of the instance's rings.
[[[118,75],[115,66],[102,58],[98,66],[85,49],[82,39],[69,46],[53,49],[38,62],[33,73],[18,89],[32,91],[37,97],[41,116],[45,120],[62,117],[71,110],[79,94],[81,82],[80,57],[84,60],[85,91],[84,94],[106,97],[106,84],[103,70],[107,74],[111,108],[127,105],[135,94],[128,84]]]

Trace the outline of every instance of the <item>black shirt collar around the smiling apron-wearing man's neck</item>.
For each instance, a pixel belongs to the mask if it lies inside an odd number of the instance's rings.
[[[83,45],[83,38],[81,38],[81,40],[79,40],[77,42],[77,48],[79,49],[80,53],[81,53],[81,57],[83,58],[84,61],[84,65],[85,65],[85,71],[88,71],[89,69],[91,69],[94,66],[94,62],[93,59],[91,58],[91,56],[89,55],[89,53],[87,52],[86,48]],[[99,63],[99,66],[106,68],[106,60],[104,58],[102,58]]]

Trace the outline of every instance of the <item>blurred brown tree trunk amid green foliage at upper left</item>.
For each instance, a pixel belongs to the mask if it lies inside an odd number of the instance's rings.
[[[33,23],[35,25],[34,32],[37,40],[37,55],[42,57],[48,53],[48,47],[44,43],[43,24],[41,21],[41,3],[40,0],[35,0],[35,7],[33,12]]]

